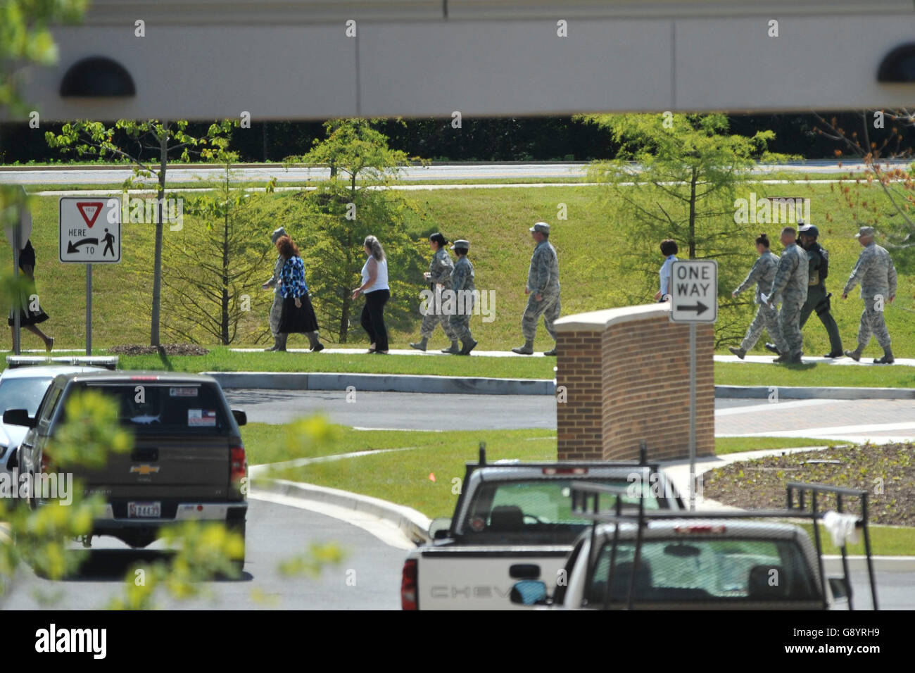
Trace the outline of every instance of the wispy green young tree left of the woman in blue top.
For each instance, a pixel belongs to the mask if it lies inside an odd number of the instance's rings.
[[[163,282],[167,306],[173,309],[164,325],[190,342],[205,334],[228,345],[246,316],[266,311],[258,288],[271,250],[253,208],[264,197],[233,186],[236,154],[221,151],[218,158],[223,168],[220,186],[188,201],[184,212],[193,221],[168,237]],[[272,191],[273,183],[267,186]]]

